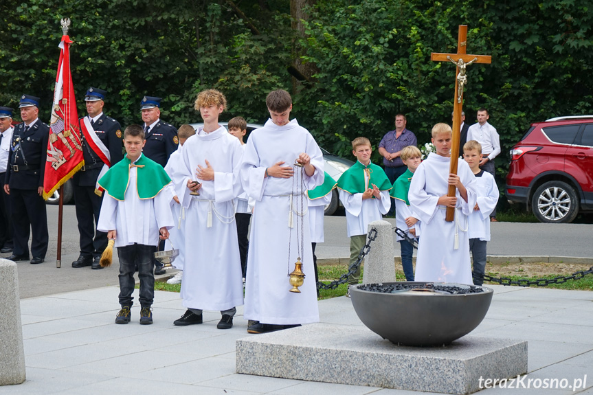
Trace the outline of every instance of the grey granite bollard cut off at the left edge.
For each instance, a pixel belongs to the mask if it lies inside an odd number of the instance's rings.
[[[0,259],[0,385],[25,381],[25,350],[16,263]]]

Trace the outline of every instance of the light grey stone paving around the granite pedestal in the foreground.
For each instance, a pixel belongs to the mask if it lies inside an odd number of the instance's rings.
[[[593,293],[492,286],[493,302],[471,335],[528,340],[528,379],[566,379],[571,388],[480,394],[593,394]],[[235,373],[235,341],[247,334],[238,309],[234,327],[177,327],[185,309],[179,294],[155,292],[153,325],[139,325],[139,306],[127,325],[113,323],[119,289],[110,286],[21,300],[27,381],[1,394],[422,394],[376,387],[275,379]],[[135,291],[137,297],[137,291]],[[350,300],[323,300],[322,322],[362,326]],[[377,341],[383,341],[377,336]],[[1,354],[1,350],[0,350]],[[271,356],[273,357],[273,356]],[[586,388],[573,391],[587,377]],[[525,382],[526,383],[526,382]]]

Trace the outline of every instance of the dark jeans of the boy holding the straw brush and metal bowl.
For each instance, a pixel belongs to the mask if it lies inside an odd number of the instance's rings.
[[[118,247],[120,258],[120,304],[131,307],[134,298],[134,273],[138,267],[140,280],[140,306],[150,307],[155,299],[155,252],[157,246],[133,244]]]

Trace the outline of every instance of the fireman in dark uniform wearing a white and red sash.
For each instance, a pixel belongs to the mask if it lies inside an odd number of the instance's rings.
[[[103,113],[104,100],[107,91],[90,87],[85,95],[88,118],[93,131],[103,146],[89,144],[87,135],[80,132],[82,142],[82,155],[85,166],[74,174],[74,203],[76,204],[76,219],[78,220],[78,233],[80,234],[80,256],[72,262],[72,267],[91,266],[93,269],[102,269],[100,265],[101,254],[107,247],[107,233],[96,230],[101,210],[102,196],[96,190],[97,179],[104,166],[101,156],[107,157],[102,149],[109,152],[109,163],[113,166],[122,160],[122,126],[120,122]],[[80,118],[80,124],[85,118]],[[93,133],[89,131],[89,133]],[[93,148],[93,146],[95,148]],[[98,150],[99,152],[96,152]]]

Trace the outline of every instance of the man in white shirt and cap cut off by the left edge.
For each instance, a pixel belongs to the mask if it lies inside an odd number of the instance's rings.
[[[8,166],[8,151],[12,140],[12,109],[0,107],[0,252],[12,252],[12,221],[10,221],[10,200],[4,192],[4,178]]]

